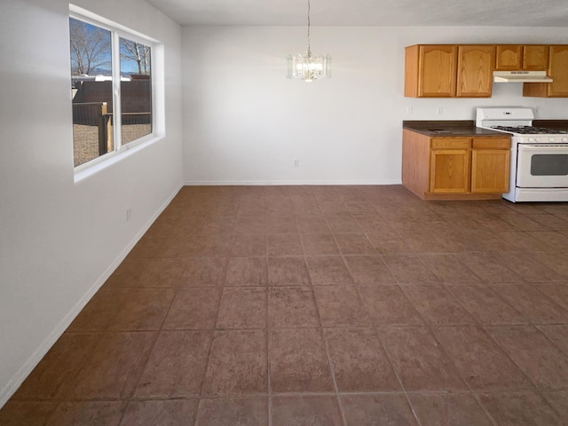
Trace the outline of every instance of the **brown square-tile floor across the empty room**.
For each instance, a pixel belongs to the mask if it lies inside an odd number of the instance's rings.
[[[184,187],[0,423],[568,424],[568,204]]]

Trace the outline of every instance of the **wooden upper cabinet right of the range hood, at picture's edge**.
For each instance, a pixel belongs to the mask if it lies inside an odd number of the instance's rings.
[[[525,83],[523,96],[568,98],[568,45],[548,47],[548,76],[552,83]]]

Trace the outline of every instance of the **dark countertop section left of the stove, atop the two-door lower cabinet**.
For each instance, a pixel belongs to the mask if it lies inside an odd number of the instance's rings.
[[[503,138],[509,136],[502,131],[487,130],[476,127],[473,120],[454,120],[454,121],[404,121],[403,129],[413,130],[426,136],[483,136]]]

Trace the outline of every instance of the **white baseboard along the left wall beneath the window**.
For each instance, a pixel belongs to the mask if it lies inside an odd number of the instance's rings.
[[[162,211],[168,207],[170,202],[174,199],[176,194],[182,188],[182,185],[178,185],[176,190],[173,193],[170,193],[168,199],[162,204],[162,207],[154,213],[154,215],[147,221],[146,225],[144,225],[140,231],[136,234],[136,236],[130,241],[130,243],[122,250],[122,252],[116,256],[114,262],[106,268],[106,271],[103,272],[99,279],[95,281],[95,283],[89,288],[87,293],[75,304],[73,309],[67,313],[67,315],[59,322],[59,325],[53,329],[50,335],[47,336],[43,343],[37,348],[37,350],[32,354],[31,357],[24,363],[24,365],[20,368],[18,373],[12,377],[4,389],[0,391],[0,408],[4,406],[4,404],[12,397],[12,395],[20,388],[21,383],[26,380],[26,377],[36,368],[39,361],[43,359],[47,351],[51,349],[51,346],[59,337],[67,330],[67,327],[73,322],[73,319],[83,310],[86,304],[89,303],[91,297],[99,291],[99,288],[105,283],[106,280],[111,276],[111,274],[116,270],[116,268],[122,263],[122,261],[128,256],[130,250],[134,248],[136,243],[142,238],[142,236],[146,233],[146,231],[150,228],[150,226],[154,223],[154,221],[162,214]]]

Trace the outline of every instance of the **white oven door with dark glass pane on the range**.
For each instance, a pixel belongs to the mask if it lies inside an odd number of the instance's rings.
[[[519,144],[517,187],[568,188],[568,144]]]

